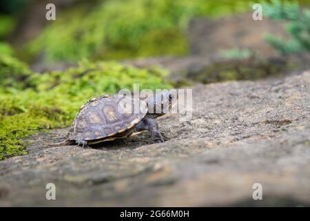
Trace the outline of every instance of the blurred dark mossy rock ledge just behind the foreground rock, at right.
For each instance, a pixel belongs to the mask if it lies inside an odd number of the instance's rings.
[[[158,57],[123,61],[138,68],[161,66],[171,73],[169,81],[177,87],[218,81],[256,80],[291,74],[293,70],[310,68],[310,55],[278,57],[252,56],[245,59],[228,59],[218,55],[189,57]]]

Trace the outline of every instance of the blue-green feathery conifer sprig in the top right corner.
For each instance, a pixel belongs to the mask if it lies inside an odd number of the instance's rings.
[[[275,20],[286,21],[285,28],[291,37],[283,39],[267,35],[266,41],[282,55],[310,51],[310,10],[301,9],[298,2],[272,0],[263,3],[263,13]]]

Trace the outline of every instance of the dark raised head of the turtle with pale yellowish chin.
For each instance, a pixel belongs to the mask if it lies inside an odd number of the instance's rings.
[[[176,105],[178,100],[178,93],[176,90],[161,90],[156,92],[154,96],[145,100],[147,103],[147,115],[159,117],[171,111],[172,107]]]

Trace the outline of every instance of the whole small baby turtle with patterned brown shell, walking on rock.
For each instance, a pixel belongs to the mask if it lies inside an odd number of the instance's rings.
[[[164,142],[158,131],[156,118],[176,104],[177,93],[161,91],[147,99],[133,99],[124,95],[103,95],[90,99],[81,106],[66,140],[56,144],[88,146],[130,137],[149,131],[154,142]],[[134,110],[138,104],[138,111]]]

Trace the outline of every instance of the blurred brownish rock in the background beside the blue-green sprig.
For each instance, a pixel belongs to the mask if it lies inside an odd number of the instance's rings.
[[[287,38],[282,22],[267,17],[255,21],[252,13],[220,19],[194,19],[188,30],[192,55],[213,55],[222,50],[247,48],[263,56],[275,56],[276,50],[264,40],[266,34]]]

